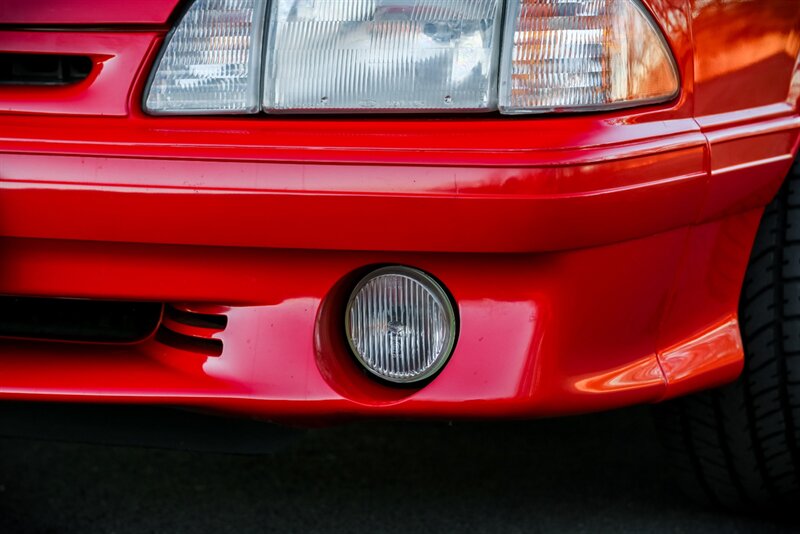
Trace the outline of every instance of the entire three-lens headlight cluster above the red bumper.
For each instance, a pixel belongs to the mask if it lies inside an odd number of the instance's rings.
[[[195,0],[166,40],[145,110],[517,114],[657,103],[679,91],[672,53],[639,0],[266,5]]]

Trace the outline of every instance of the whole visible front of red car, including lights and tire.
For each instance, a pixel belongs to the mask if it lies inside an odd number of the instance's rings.
[[[797,0],[4,1],[0,397],[669,401],[690,487],[789,507],[799,59]]]

